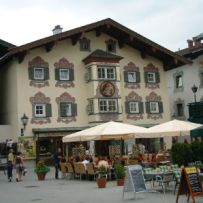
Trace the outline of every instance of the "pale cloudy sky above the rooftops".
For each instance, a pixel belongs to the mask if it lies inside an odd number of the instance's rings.
[[[17,46],[111,18],[172,51],[203,33],[203,0],[0,0],[0,39]]]

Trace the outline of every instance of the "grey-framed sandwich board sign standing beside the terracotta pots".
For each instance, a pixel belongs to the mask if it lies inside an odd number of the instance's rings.
[[[126,175],[123,187],[123,199],[125,192],[134,192],[134,195],[139,192],[146,192],[142,166],[132,165],[126,167]]]

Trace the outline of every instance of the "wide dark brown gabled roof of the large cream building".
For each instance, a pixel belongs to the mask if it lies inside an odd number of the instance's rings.
[[[93,30],[95,31],[96,36],[100,36],[102,33],[105,33],[117,39],[120,48],[127,44],[140,50],[142,57],[151,55],[158,58],[159,60],[163,61],[165,70],[190,63],[190,61],[186,58],[175,54],[174,52],[156,44],[155,42],[143,37],[142,35],[128,29],[110,18],[12,48],[10,49],[9,56],[2,59],[0,63],[9,60],[9,58],[12,56],[18,56],[21,60],[28,50],[37,47],[44,46],[47,51],[50,51],[56,41],[61,41],[67,38],[71,38],[72,44],[74,45],[77,43],[82,33]]]

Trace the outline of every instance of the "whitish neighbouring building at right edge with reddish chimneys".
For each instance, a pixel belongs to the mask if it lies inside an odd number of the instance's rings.
[[[187,48],[177,52],[191,60],[191,64],[167,71],[170,111],[173,118],[203,123],[202,40],[203,34],[193,37],[193,40],[187,40]]]

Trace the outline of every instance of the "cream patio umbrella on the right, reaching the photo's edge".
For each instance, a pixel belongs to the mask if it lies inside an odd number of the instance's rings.
[[[143,137],[173,137],[190,135],[190,131],[202,126],[201,124],[188,121],[172,120],[156,126],[153,126],[144,133]]]

